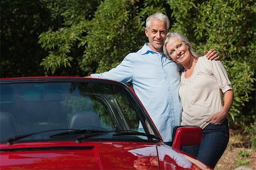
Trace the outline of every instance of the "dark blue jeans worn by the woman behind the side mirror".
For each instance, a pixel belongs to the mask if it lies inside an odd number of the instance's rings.
[[[229,125],[226,119],[222,125],[209,124],[203,129],[200,145],[182,146],[181,150],[195,156],[201,162],[214,168],[229,142]]]

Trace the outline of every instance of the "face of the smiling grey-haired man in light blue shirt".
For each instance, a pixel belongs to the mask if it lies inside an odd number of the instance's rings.
[[[168,28],[166,23],[156,18],[151,19],[150,29],[145,28],[145,34],[148,37],[149,47],[154,52],[163,51],[163,44],[167,33]]]

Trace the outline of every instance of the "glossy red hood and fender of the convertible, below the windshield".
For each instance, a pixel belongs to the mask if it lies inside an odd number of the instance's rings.
[[[0,144],[1,169],[204,169],[172,148],[134,142]],[[159,153],[158,153],[159,152]]]

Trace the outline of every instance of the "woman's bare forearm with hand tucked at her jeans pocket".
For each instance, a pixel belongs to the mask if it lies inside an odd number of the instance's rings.
[[[213,116],[209,117],[206,122],[210,122],[214,125],[221,125],[225,118],[228,116],[230,108],[232,107],[234,100],[233,90],[228,90],[224,94],[224,107],[222,111],[213,114]]]

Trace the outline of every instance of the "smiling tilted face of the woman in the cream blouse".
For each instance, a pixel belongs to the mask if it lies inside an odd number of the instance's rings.
[[[188,45],[182,42],[178,37],[172,37],[167,42],[166,50],[169,56],[177,63],[181,63],[181,65],[190,57]]]

